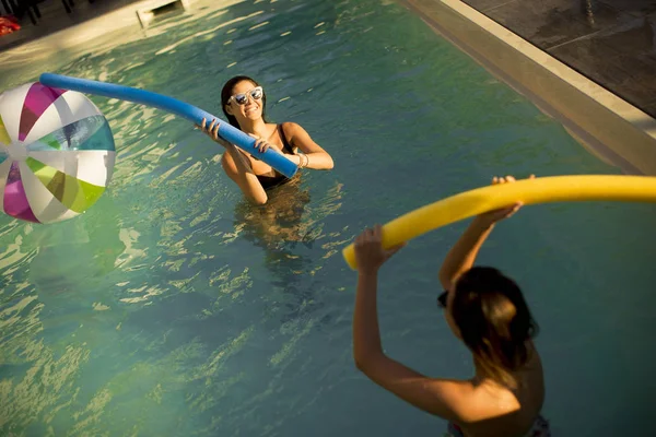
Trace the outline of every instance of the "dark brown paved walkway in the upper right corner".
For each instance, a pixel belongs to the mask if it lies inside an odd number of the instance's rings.
[[[464,0],[656,118],[655,0]]]

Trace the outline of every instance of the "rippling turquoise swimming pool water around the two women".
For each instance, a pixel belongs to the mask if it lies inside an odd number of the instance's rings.
[[[300,122],[336,167],[250,206],[188,122],[92,97],[117,143],[108,191],[57,225],[0,217],[0,434],[440,435],[443,421],[356,371],[341,248],[496,174],[618,170],[394,2],[247,1],[129,32],[8,68],[0,90],[52,71],[221,115],[223,82],[246,73],[270,118]],[[481,253],[518,280],[541,326],[555,435],[656,429],[655,213],[534,205]],[[411,241],[382,272],[386,351],[434,376],[471,373],[434,305],[465,225]]]

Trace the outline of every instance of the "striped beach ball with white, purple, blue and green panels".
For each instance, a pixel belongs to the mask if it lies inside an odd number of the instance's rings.
[[[116,152],[107,120],[83,94],[30,83],[0,95],[0,209],[55,223],[92,206]]]

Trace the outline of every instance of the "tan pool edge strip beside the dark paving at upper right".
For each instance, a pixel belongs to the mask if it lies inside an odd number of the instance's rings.
[[[460,0],[397,0],[623,173],[656,175],[656,119]]]

